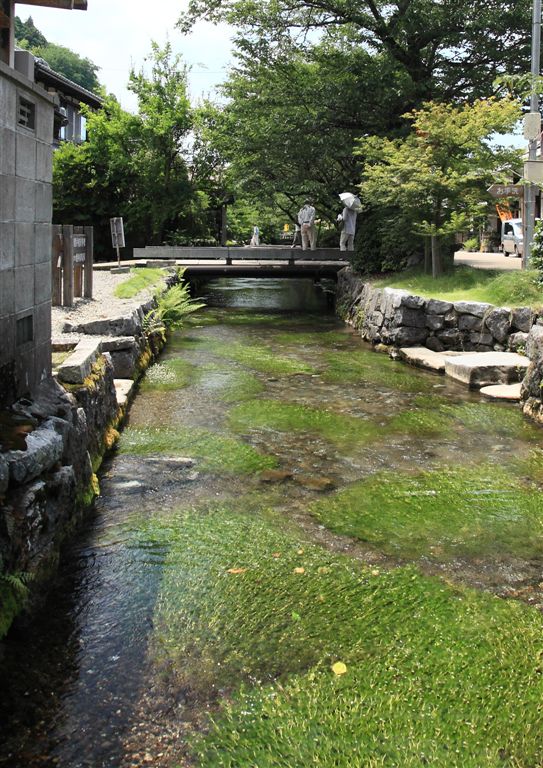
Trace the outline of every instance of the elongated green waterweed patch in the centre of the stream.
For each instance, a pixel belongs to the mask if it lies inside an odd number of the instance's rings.
[[[336,445],[352,445],[373,440],[380,427],[353,416],[277,400],[251,400],[228,414],[230,426],[238,431],[273,429],[280,432],[309,432]]]

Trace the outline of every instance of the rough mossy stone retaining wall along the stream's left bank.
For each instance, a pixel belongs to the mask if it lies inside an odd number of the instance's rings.
[[[0,453],[0,638],[21,607],[3,574],[33,577],[39,596],[62,543],[96,495],[94,473],[118,437],[127,407],[119,384],[139,378],[164,343],[161,333],[144,334],[144,313],[145,307],[134,312],[130,324],[79,328],[108,335],[85,337],[61,366],[64,376],[59,369],[58,380],[47,379],[33,400],[12,407],[28,434],[24,450]]]

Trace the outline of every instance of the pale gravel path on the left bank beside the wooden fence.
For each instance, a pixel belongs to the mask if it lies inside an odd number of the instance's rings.
[[[140,291],[132,299],[119,299],[115,296],[115,288],[124,283],[129,274],[111,274],[107,270],[94,270],[93,298],[75,299],[73,307],[52,308],[52,337],[53,344],[78,341],[82,334],[63,333],[65,323],[86,323],[90,320],[103,320],[108,317],[120,317],[128,314],[134,307],[145,303],[157,290],[152,286]]]

